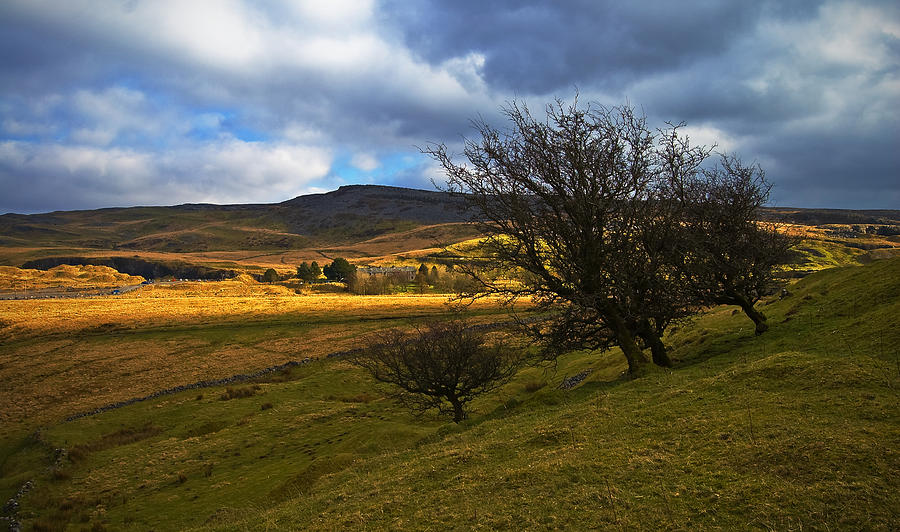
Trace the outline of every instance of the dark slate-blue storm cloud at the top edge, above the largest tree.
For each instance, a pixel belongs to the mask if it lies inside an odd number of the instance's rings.
[[[515,0],[391,8],[410,48],[428,60],[479,51],[492,86],[534,94],[574,85],[618,90],[721,55],[765,10],[757,2]]]

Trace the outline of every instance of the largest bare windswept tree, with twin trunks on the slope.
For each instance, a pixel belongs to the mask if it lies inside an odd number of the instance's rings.
[[[708,150],[658,139],[627,106],[558,100],[545,119],[518,103],[503,112],[508,129],[475,122],[480,138],[465,142],[468,163],[444,145],[425,150],[489,235],[489,260],[470,269],[479,290],[554,311],[532,331],[548,349],[618,345],[635,373],[650,348],[669,365],[662,333],[694,301],[670,259],[678,209],[665,195],[673,166],[664,155],[702,161]],[[521,284],[498,282],[498,272],[517,272]]]

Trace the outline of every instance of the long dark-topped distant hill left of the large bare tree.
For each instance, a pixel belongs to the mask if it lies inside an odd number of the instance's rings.
[[[159,252],[302,249],[464,219],[442,192],[344,186],[269,205],[188,204],[0,216],[0,246]]]

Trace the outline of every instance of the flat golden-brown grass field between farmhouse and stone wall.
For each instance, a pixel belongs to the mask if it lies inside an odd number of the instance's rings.
[[[493,313],[493,301],[476,313]],[[298,295],[247,276],[121,296],[0,301],[0,425],[35,425],[199,380],[321,357],[448,312],[440,294]]]

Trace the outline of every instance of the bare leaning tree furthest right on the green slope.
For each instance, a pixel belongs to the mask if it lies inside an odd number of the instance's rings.
[[[758,221],[771,188],[762,168],[734,155],[721,155],[717,165],[678,187],[685,235],[676,257],[686,279],[703,303],[741,307],[756,334],[769,325],[755,303],[771,290],[794,244],[773,224]]]

